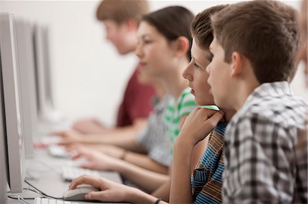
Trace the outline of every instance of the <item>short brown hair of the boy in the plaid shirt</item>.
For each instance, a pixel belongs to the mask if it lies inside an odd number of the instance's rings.
[[[249,59],[259,83],[291,81],[300,36],[298,13],[279,1],[235,3],[211,16],[224,61],[233,52]]]

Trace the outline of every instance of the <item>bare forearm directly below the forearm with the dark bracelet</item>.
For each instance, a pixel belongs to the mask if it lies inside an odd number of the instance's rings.
[[[119,161],[113,170],[147,192],[153,192],[169,179],[168,175],[148,171],[125,161]]]

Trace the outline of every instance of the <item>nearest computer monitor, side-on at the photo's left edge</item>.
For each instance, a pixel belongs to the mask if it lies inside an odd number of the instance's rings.
[[[4,141],[8,184],[12,193],[23,192],[25,148],[21,96],[19,92],[18,47],[14,15],[0,13],[1,90],[4,112]]]

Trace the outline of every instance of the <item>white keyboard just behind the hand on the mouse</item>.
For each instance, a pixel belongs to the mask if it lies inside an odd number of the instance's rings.
[[[64,179],[64,181],[72,181],[81,175],[92,175],[94,177],[100,177],[101,174],[97,170],[82,169],[76,166],[62,167],[62,179]]]

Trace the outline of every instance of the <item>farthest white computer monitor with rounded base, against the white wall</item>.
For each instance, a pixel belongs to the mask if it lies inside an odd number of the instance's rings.
[[[63,115],[55,110],[53,103],[49,49],[48,28],[43,25],[35,25],[34,53],[36,61],[38,115],[43,121],[56,123],[63,119]]]

